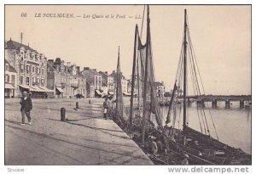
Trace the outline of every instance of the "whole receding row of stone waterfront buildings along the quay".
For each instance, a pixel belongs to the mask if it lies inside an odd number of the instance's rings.
[[[32,98],[103,97],[114,93],[116,72],[97,71],[65,63],[60,58],[47,59],[43,53],[20,42],[5,42],[5,98],[20,98],[23,91]],[[125,95],[131,82],[122,76]],[[164,93],[163,83],[157,89]]]

